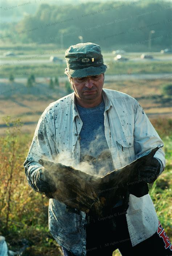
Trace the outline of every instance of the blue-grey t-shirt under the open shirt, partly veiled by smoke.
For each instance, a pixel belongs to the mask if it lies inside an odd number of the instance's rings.
[[[94,108],[83,108],[78,104],[76,104],[76,106],[83,122],[81,132],[79,133],[81,137],[80,164],[85,164],[85,166],[87,164],[90,174],[97,174],[98,176],[106,175],[106,173],[113,171],[115,168],[110,155],[110,148],[108,148],[105,137],[105,103],[102,100],[101,104]],[[102,156],[105,151],[105,155]],[[107,151],[109,153],[107,153]],[[83,157],[86,155],[93,156],[96,160],[86,163],[83,161]],[[101,157],[99,157],[100,155]],[[105,156],[106,158],[103,158]],[[98,158],[103,159],[97,160]]]

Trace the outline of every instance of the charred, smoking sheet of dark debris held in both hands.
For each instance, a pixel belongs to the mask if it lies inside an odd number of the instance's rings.
[[[43,159],[40,159],[39,163],[45,167],[45,179],[57,189],[52,193],[52,198],[68,207],[91,213],[92,216],[105,216],[118,203],[119,197],[125,199],[126,209],[128,208],[130,191],[134,194],[133,185],[136,184],[136,188],[142,185],[141,193],[138,192],[136,196],[148,193],[147,182],[139,178],[138,169],[139,166],[144,166],[146,161],[153,159],[158,149],[159,147],[156,147],[148,155],[102,177]]]

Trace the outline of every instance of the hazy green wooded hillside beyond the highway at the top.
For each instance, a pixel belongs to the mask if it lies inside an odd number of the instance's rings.
[[[146,49],[151,40],[152,48],[168,48],[171,8],[170,2],[147,0],[41,4],[34,15],[16,23],[15,29],[9,27],[13,29],[9,40],[53,43],[57,48],[90,41],[127,51]]]

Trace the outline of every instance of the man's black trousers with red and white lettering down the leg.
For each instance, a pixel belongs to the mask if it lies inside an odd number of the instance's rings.
[[[112,226],[116,225],[114,232]],[[64,256],[76,256],[62,248]],[[172,245],[164,229],[159,223],[159,228],[153,236],[132,247],[127,227],[126,215],[118,216],[118,221],[113,218],[94,220],[86,227],[86,255],[87,256],[112,256],[119,249],[122,256],[139,255],[152,256],[172,255]]]

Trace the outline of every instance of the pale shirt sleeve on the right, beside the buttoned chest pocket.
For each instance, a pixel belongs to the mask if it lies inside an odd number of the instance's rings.
[[[134,103],[134,114],[134,149],[136,158],[138,158],[143,156],[146,151],[163,146],[163,141],[160,139],[158,133],[137,100],[135,100]],[[161,171],[159,174],[161,174],[165,168],[165,153],[162,148],[159,148],[156,151],[154,157],[160,161]]]

